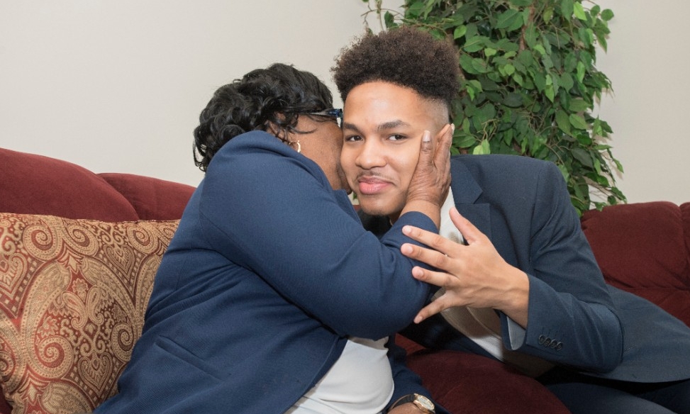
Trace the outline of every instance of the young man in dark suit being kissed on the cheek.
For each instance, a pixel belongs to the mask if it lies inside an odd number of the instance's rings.
[[[404,206],[421,131],[449,119],[455,48],[398,28],[351,45],[333,74],[345,102],[340,162],[363,223],[385,230]],[[438,250],[401,248],[439,270],[414,276],[445,293],[404,334],[511,364],[576,414],[690,413],[690,329],[604,283],[557,167],[461,155],[451,174],[445,238],[405,229]]]

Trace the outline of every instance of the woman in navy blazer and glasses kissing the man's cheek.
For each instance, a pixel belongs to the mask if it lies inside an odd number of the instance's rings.
[[[281,64],[216,91],[194,133],[206,175],[120,393],[96,413],[373,414],[426,393],[386,341],[430,295],[410,276],[421,263],[399,252],[413,242],[401,228],[437,231],[452,128],[425,133],[403,213],[379,240],[347,198],[331,106],[313,74]],[[420,409],[390,411],[405,412]]]

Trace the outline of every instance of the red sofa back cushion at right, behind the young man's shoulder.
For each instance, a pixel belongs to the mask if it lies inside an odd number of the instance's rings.
[[[687,228],[681,208],[667,201],[608,206],[582,216],[606,281],[690,325]]]

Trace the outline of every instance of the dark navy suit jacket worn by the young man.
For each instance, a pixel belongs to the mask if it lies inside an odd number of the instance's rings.
[[[453,157],[451,172],[457,211],[530,280],[527,329],[499,313],[508,349],[608,379],[690,378],[690,328],[649,301],[604,283],[554,164],[460,155]],[[384,223],[360,217],[379,231]],[[426,347],[490,356],[439,315],[403,333]]]

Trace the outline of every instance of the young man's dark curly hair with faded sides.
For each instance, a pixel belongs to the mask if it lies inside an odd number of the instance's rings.
[[[455,46],[409,26],[363,35],[341,50],[330,72],[343,102],[355,86],[384,81],[443,101],[450,110],[460,88]]]

